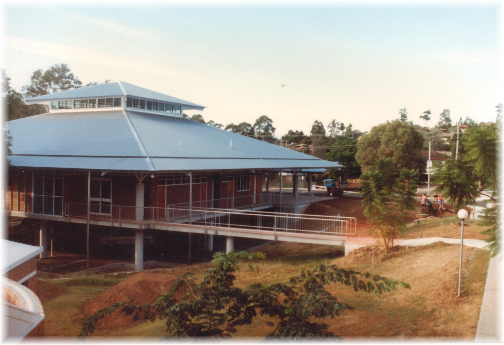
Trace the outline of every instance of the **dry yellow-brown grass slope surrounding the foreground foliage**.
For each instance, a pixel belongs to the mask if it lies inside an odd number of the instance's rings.
[[[485,250],[465,248],[463,297],[457,298],[459,247],[443,243],[428,246],[402,248],[400,251],[375,256],[374,268],[370,260],[350,254],[335,258],[335,247],[287,243],[265,248],[269,258],[254,262],[258,270],[251,274],[246,264],[236,273],[236,285],[245,287],[251,283],[288,282],[303,268],[319,263],[335,263],[339,266],[370,271],[388,278],[410,283],[411,290],[398,290],[381,298],[355,293],[343,286],[331,286],[329,290],[340,301],[350,304],[354,310],[346,311],[335,319],[324,322],[330,329],[347,340],[365,338],[424,339],[429,341],[473,341],[476,332],[483,295],[488,253]],[[190,267],[201,278],[211,264]],[[181,274],[184,267],[167,270]],[[44,304],[46,334],[49,336],[75,337],[82,322],[82,304],[107,287],[69,286],[67,292]],[[261,340],[270,328],[266,317],[243,326],[236,337]],[[152,337],[163,338],[166,329],[163,321],[143,323],[119,330],[100,330],[92,335],[99,337]]]

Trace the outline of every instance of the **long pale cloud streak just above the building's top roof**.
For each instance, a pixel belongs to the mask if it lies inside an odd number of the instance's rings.
[[[14,51],[23,51],[33,54],[55,57],[60,61],[77,61],[84,65],[95,65],[100,68],[122,68],[129,71],[132,67],[137,72],[152,74],[153,71],[158,75],[166,77],[188,78],[184,73],[176,70],[170,70],[162,65],[157,65],[138,59],[131,60],[124,58],[122,54],[112,56],[96,50],[80,48],[72,45],[56,44],[43,41],[35,41],[26,38],[7,36],[6,45]],[[10,55],[13,55],[10,53]]]

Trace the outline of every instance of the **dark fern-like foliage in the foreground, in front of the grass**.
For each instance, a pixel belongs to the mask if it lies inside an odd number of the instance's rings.
[[[226,339],[237,327],[250,324],[258,315],[268,315],[266,321],[273,329],[268,337],[286,339],[327,338],[336,336],[320,320],[336,317],[341,311],[352,309],[339,302],[326,290],[326,286],[339,283],[379,296],[397,287],[409,285],[379,275],[345,270],[336,265],[320,265],[303,270],[288,284],[253,284],[245,289],[234,286],[233,274],[240,259],[263,258],[259,253],[231,252],[214,254],[215,266],[206,270],[200,284],[195,285],[192,273],[183,274],[167,294],[153,304],[135,306],[119,302],[91,315],[83,324],[80,336],[94,332],[96,323],[115,310],[132,315],[134,320],[166,320],[166,329],[174,337],[199,339]],[[251,267],[253,268],[253,267]],[[173,296],[185,288],[180,301]]]

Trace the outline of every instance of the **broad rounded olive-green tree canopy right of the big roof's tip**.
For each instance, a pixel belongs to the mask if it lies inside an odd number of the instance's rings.
[[[398,169],[417,169],[423,174],[426,160],[421,155],[423,136],[409,122],[387,121],[371,128],[357,142],[355,158],[362,171],[374,167],[378,158],[391,157]]]

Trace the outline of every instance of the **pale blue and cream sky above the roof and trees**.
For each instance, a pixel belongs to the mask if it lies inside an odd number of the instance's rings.
[[[503,101],[502,2],[4,2],[1,65],[21,91],[67,63],[207,108],[224,126],[273,119],[278,137],[332,119],[494,121]],[[285,85],[285,86],[281,86]]]

